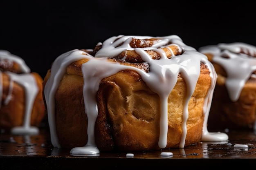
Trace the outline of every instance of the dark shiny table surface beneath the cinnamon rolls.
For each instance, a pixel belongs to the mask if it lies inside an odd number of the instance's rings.
[[[209,132],[211,132],[209,130]],[[223,131],[224,132],[224,131]],[[40,129],[39,135],[20,136],[7,132],[0,134],[0,170],[5,169],[131,169],[158,167],[220,167],[220,163],[247,166],[256,163],[256,132],[253,130],[229,130],[226,142],[200,142],[184,149],[127,153],[100,153],[98,157],[77,157],[68,149],[54,148],[48,129]],[[246,144],[247,149],[234,148],[234,144]],[[172,157],[161,157],[161,152],[172,152]]]

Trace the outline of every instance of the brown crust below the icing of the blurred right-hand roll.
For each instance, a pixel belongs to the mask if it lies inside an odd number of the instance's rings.
[[[243,52],[243,51],[242,51]],[[227,73],[219,64],[212,61],[212,55],[206,53],[218,74],[213,93],[208,128],[252,129],[256,121],[256,79],[245,82],[238,101],[229,98],[225,81]],[[255,73],[254,73],[255,74]]]

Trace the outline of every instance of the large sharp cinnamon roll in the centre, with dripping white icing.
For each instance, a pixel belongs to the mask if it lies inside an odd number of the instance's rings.
[[[71,155],[222,141],[206,124],[216,72],[177,35],[111,37],[56,58],[43,82],[51,141]]]

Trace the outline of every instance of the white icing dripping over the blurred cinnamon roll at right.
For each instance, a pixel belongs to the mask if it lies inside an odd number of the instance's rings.
[[[203,46],[201,53],[211,53],[213,62],[220,64],[227,72],[225,85],[231,101],[236,102],[245,85],[256,70],[256,46],[236,42]],[[246,54],[241,53],[244,51]],[[255,76],[255,75],[254,75]]]

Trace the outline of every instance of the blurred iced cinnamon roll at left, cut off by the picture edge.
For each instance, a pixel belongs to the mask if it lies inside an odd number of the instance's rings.
[[[25,61],[0,50],[0,128],[13,134],[37,134],[45,116],[43,78]]]

